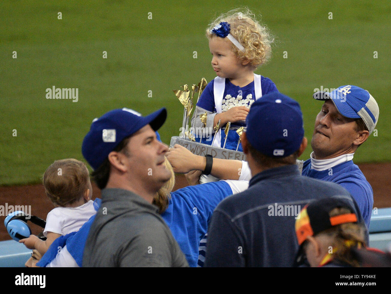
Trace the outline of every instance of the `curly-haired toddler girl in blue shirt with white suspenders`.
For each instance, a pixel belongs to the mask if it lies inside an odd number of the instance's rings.
[[[206,30],[212,67],[217,77],[204,89],[197,103],[193,127],[201,130],[200,115],[207,113],[206,126],[201,132],[202,143],[212,144],[213,128],[221,119],[213,146],[223,147],[224,129],[231,122],[226,149],[236,150],[239,135],[236,130],[245,127],[249,107],[262,95],[278,91],[269,79],[256,75],[256,68],[271,55],[273,38],[266,27],[255,20],[253,14],[238,9],[219,16]],[[242,151],[241,144],[238,151]]]

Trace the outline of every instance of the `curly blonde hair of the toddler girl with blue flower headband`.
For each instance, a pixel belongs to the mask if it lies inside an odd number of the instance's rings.
[[[244,46],[244,52],[242,52],[232,44],[232,51],[241,61],[250,61],[249,64],[254,68],[269,61],[274,37],[265,25],[255,19],[253,12],[248,8],[238,8],[221,14],[206,29],[208,39],[216,37],[215,34],[210,33],[210,30],[221,22],[230,24],[230,34]]]

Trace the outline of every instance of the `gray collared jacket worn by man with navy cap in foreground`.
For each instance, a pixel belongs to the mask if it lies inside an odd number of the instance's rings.
[[[123,189],[103,189],[83,267],[187,267],[158,208]]]

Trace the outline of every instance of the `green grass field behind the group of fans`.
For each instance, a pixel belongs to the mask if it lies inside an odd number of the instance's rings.
[[[375,97],[380,116],[377,137],[359,148],[355,163],[391,160],[389,1],[53,2],[0,2],[0,185],[39,182],[56,159],[84,160],[92,119],[114,108],[148,114],[166,107],[160,134],[169,143],[183,114],[172,90],[215,77],[204,30],[240,5],[262,14],[276,37],[273,58],[256,73],[301,104],[308,139],[321,107],[314,89],[357,85]],[[78,88],[79,101],[46,99],[52,86]]]

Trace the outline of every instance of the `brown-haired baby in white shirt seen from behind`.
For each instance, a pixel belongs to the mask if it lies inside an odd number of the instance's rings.
[[[93,207],[90,174],[86,165],[76,159],[56,160],[43,175],[43,185],[56,208],[46,218],[43,231],[46,241],[35,235],[20,240],[29,249],[45,254],[50,244],[61,235],[77,232],[96,213]]]

